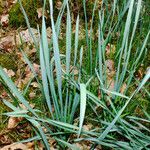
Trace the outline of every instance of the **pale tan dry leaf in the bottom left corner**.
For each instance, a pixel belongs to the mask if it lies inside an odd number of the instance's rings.
[[[1,148],[1,150],[28,150],[27,146],[25,144],[22,143],[18,143],[18,144],[10,144],[7,146],[4,146],[3,148]]]

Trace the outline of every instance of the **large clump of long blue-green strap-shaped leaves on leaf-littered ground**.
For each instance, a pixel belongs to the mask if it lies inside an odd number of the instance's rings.
[[[13,93],[12,100],[14,100],[14,103],[3,100],[13,110],[5,114],[26,118],[36,131],[35,137],[23,142],[42,139],[45,148],[49,150],[48,138],[53,136],[60,144],[60,147],[63,148],[68,146],[71,149],[77,149],[73,143],[80,141],[90,141],[91,149],[94,149],[98,144],[104,148],[114,149],[148,148],[150,143],[150,130],[147,127],[147,123],[150,122],[149,114],[145,109],[141,109],[144,115],[143,118],[140,118],[131,112],[125,111],[132,101],[136,101],[136,95],[139,94],[139,91],[144,91],[150,96],[149,91],[145,89],[145,84],[150,78],[150,70],[147,71],[138,84],[134,77],[142,54],[146,53],[150,34],[149,29],[142,44],[135,48],[135,55],[131,55],[139,23],[141,3],[142,0],[124,1],[120,8],[118,1],[115,0],[110,3],[112,7],[108,10],[106,9],[108,1],[102,1],[101,10],[98,13],[98,39],[94,41],[93,20],[97,1],[93,5],[92,21],[88,23],[86,1],[83,0],[86,42],[85,45],[80,47],[80,17],[78,15],[76,18],[75,36],[73,37],[71,13],[67,0],[64,0],[56,22],[54,22],[53,18],[53,1],[49,0],[52,28],[50,43],[47,41],[44,15],[41,32],[39,29],[38,43],[32,34],[28,17],[21,5],[31,37],[39,52],[41,78],[37,76],[32,63],[23,50],[22,53],[34,74],[35,80],[39,83],[43,96],[41,101],[45,104],[46,109],[43,112],[43,110],[31,108],[28,100],[18,91],[12,80],[0,68],[1,81],[6,84],[7,90]],[[45,9],[45,4],[46,1],[44,1],[43,10]],[[66,53],[62,55],[59,35],[61,20],[65,11],[67,12],[66,40],[64,40]],[[125,18],[125,22],[122,22],[123,18]],[[113,41],[113,36],[116,32],[119,33],[115,43],[116,55],[114,60],[116,62],[116,72],[114,86],[110,89],[108,86],[106,45]],[[72,43],[72,38],[75,39],[74,43]],[[94,42],[97,44],[93,44]],[[97,45],[96,49],[95,45]],[[129,63],[130,60],[134,60],[132,64]],[[96,84],[93,82],[96,82]],[[125,89],[121,92],[121,87],[124,84],[126,84]],[[129,91],[131,87],[133,87],[132,92]],[[99,90],[99,95],[97,95],[95,89]],[[17,107],[18,103],[22,103],[27,110]],[[90,114],[86,114],[87,108],[91,109]],[[90,131],[85,130],[83,128],[85,119],[87,122],[88,120],[93,121],[93,124],[97,124],[98,127],[94,126],[94,129]],[[46,129],[46,132],[43,128]],[[70,139],[70,135],[76,136]],[[82,138],[80,138],[80,135],[82,135]]]

